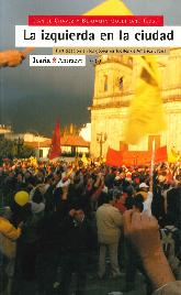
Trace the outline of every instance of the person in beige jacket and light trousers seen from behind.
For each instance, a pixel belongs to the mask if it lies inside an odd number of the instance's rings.
[[[100,244],[99,271],[98,275],[103,278],[105,275],[105,255],[109,250],[111,261],[111,275],[121,275],[117,260],[118,240],[123,225],[122,214],[114,207],[115,198],[113,194],[104,193],[104,204],[97,210],[98,241]]]

